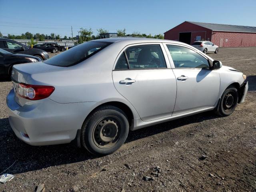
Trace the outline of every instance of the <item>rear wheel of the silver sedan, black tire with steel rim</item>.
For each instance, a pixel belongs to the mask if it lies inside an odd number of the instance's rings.
[[[118,150],[129,132],[126,114],[114,106],[102,106],[86,118],[81,129],[81,146],[104,156]]]

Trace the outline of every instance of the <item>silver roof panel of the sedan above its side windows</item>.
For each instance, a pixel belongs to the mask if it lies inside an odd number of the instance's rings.
[[[105,38],[105,39],[96,39],[92,41],[101,41],[101,42],[126,42],[128,44],[136,44],[136,43],[175,43],[175,44],[184,44],[185,43],[173,40],[166,39],[152,39],[152,38],[138,38],[138,37],[126,37],[126,38]]]

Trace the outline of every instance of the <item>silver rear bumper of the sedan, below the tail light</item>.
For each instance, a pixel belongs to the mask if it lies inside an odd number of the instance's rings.
[[[20,140],[30,145],[69,143],[97,102],[60,104],[48,98],[19,106],[12,89],[6,98],[9,122]]]

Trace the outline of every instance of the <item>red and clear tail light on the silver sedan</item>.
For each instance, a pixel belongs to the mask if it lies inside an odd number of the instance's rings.
[[[19,96],[29,100],[40,100],[50,96],[54,89],[53,86],[20,83],[17,88],[17,93]]]

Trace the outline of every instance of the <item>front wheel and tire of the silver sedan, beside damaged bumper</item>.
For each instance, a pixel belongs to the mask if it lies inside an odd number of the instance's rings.
[[[220,116],[228,116],[234,112],[238,103],[238,91],[235,87],[228,87],[221,96],[215,113]]]

